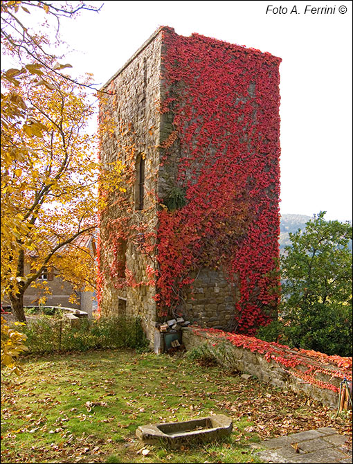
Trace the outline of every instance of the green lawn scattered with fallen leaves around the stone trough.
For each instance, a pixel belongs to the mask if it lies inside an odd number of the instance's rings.
[[[166,449],[143,446],[135,436],[138,425],[212,413],[233,418],[233,433],[221,443]],[[335,427],[332,416],[305,395],[182,355],[107,350],[28,357],[21,377],[2,375],[1,462],[260,463],[251,443]]]

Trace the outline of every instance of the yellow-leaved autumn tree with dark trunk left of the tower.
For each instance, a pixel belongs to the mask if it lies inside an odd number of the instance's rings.
[[[1,285],[18,321],[25,321],[24,292],[45,268],[70,276],[67,260],[64,274],[60,269],[60,250],[65,247],[67,256],[69,244],[75,255],[72,273],[77,274],[87,250],[78,248],[75,239],[96,227],[98,166],[93,137],[84,132],[91,105],[82,89],[64,78],[47,71],[48,85],[40,80],[34,85],[35,79],[25,75],[16,89],[30,116],[20,127],[5,127],[1,141]],[[6,83],[8,95],[13,86]],[[26,152],[13,158],[17,141]],[[24,275],[30,254],[35,258]],[[79,274],[86,276],[87,269]]]

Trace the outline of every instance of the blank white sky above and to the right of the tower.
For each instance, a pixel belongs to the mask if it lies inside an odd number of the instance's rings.
[[[95,6],[100,1],[91,1]],[[266,15],[266,7],[288,8]],[[336,7],[333,15],[305,6]],[[293,6],[298,15],[290,14]],[[338,7],[345,6],[341,14]],[[62,23],[67,60],[105,83],[159,26],[269,51],[280,64],[281,213],[352,219],[352,2],[107,1]]]

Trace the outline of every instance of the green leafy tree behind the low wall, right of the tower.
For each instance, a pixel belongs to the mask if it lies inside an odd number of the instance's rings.
[[[282,323],[260,332],[292,346],[352,355],[352,224],[314,215],[281,258]]]

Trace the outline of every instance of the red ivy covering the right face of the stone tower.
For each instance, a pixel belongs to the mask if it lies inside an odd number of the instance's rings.
[[[186,204],[159,213],[160,314],[177,307],[191,270],[221,268],[240,286],[237,330],[251,334],[278,301],[280,59],[162,33],[161,112],[174,126],[162,163],[174,163],[179,150]]]

